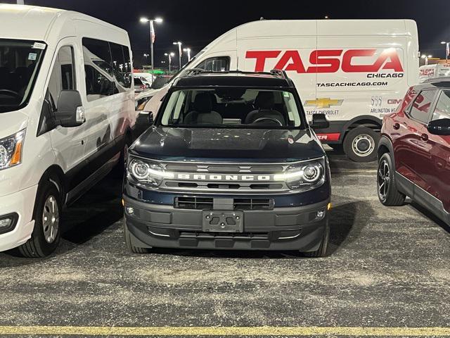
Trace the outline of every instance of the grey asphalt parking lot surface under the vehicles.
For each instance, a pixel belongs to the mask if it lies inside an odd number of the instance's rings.
[[[364,327],[387,327],[378,332],[383,337],[412,336],[409,327],[450,334],[449,228],[409,203],[382,206],[376,163],[350,163],[332,152],[330,161],[327,258],[167,249],[131,254],[122,235],[121,182],[107,177],[65,212],[63,243],[51,257],[0,254],[0,332],[39,325],[37,336],[50,327],[52,337],[75,335],[70,327],[99,337],[120,334],[102,327],[134,327],[130,335],[160,327],[155,336],[166,337],[211,334],[208,328],[232,335],[220,327],[268,327],[235,332],[267,337],[374,334]],[[289,334],[289,327],[304,329]]]

